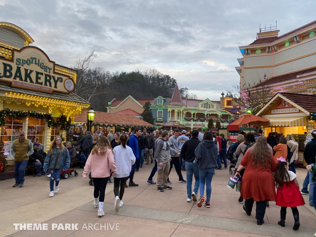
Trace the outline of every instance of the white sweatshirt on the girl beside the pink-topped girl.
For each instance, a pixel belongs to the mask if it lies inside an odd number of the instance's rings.
[[[113,149],[113,156],[116,166],[114,178],[125,178],[131,173],[132,165],[134,165],[136,157],[129,146],[116,146]]]

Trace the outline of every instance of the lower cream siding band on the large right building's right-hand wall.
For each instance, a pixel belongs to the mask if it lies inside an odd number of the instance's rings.
[[[289,63],[281,64],[273,68],[273,76],[302,70],[309,67],[316,66],[316,54],[310,55],[305,58],[300,58]]]

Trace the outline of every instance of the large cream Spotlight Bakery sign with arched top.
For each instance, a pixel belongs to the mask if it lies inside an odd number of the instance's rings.
[[[69,93],[75,89],[75,82],[56,73],[55,62],[34,46],[13,50],[12,60],[0,58],[0,81],[10,82],[12,87],[46,93]]]

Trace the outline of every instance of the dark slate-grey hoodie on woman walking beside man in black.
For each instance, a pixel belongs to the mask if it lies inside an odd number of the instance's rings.
[[[199,161],[200,169],[210,169],[217,166],[217,147],[213,141],[203,140],[198,144],[194,154]]]

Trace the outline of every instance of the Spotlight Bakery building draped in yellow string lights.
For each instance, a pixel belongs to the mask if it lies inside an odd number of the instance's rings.
[[[0,22],[0,143],[13,163],[11,143],[20,131],[48,150],[89,103],[72,93],[77,71],[55,64],[20,27]]]

